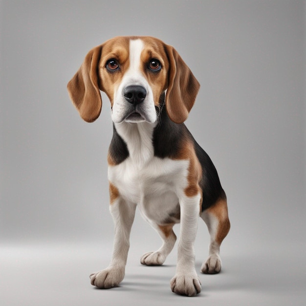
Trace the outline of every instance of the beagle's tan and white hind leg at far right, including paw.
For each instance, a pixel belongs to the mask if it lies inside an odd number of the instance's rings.
[[[202,212],[210,234],[209,256],[201,266],[201,272],[216,274],[221,270],[220,244],[230,229],[226,198],[219,199],[213,206]]]

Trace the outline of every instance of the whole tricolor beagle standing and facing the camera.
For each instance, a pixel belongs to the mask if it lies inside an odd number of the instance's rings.
[[[184,124],[195,103],[197,79],[172,46],[152,37],[115,37],[88,52],[67,88],[87,122],[100,114],[100,90],[111,104],[108,177],[114,246],[109,266],[91,274],[91,284],[110,288],[123,280],[138,206],[163,240],[140,262],[163,264],[175,245],[173,226],[180,222],[171,289],[195,296],[201,291],[194,251],[198,217],[210,233],[202,273],[220,271],[220,244],[230,229],[216,168]]]

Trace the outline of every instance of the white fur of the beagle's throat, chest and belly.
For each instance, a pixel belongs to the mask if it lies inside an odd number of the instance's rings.
[[[130,156],[109,166],[109,181],[127,202],[138,205],[146,219],[162,223],[187,186],[189,161],[155,157],[153,128],[148,123],[116,125]]]

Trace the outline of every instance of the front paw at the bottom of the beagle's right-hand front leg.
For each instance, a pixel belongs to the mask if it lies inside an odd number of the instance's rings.
[[[197,274],[176,274],[170,282],[172,292],[195,296],[201,292],[201,282]]]

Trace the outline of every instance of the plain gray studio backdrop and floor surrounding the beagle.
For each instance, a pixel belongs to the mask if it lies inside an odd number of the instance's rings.
[[[1,305],[303,305],[306,294],[305,1],[0,1]],[[118,35],[175,46],[201,84],[186,125],[213,159],[232,228],[223,272],[175,296],[160,240],[137,214],[126,278],[95,290],[109,263],[112,125],[79,117],[66,83]],[[179,226],[175,232],[179,233]],[[199,223],[197,270],[209,236]]]

